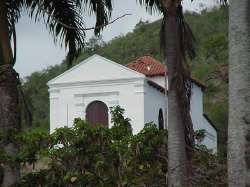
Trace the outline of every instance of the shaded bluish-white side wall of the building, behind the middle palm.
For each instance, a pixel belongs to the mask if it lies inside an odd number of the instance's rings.
[[[150,79],[152,80],[152,79]],[[159,79],[156,79],[159,81]],[[163,79],[164,80],[164,79]],[[162,80],[161,80],[162,81]],[[163,83],[164,85],[164,83]],[[193,122],[194,130],[204,129],[206,130],[206,137],[201,144],[206,145],[208,149],[217,152],[217,132],[214,127],[203,116],[203,91],[196,84],[192,85],[191,96],[191,118]],[[145,85],[145,123],[153,121],[158,125],[158,112],[159,109],[165,111],[166,99],[164,94],[157,91],[155,88]],[[165,123],[165,121],[164,121]]]

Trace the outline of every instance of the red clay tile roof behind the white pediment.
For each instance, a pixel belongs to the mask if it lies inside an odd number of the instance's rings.
[[[148,77],[165,75],[165,66],[151,56],[140,57],[134,62],[127,64],[127,67]],[[190,79],[203,90],[207,88],[204,83],[197,80],[196,78],[191,77]]]

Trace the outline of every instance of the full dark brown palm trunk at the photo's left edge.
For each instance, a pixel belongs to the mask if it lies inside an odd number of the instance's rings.
[[[20,111],[17,90],[17,73],[12,65],[12,50],[9,40],[5,1],[0,1],[0,131],[5,135],[20,130]],[[2,141],[0,149],[10,156],[16,156],[18,146],[8,138]],[[1,166],[3,179],[0,186],[7,187],[19,180],[19,166]]]

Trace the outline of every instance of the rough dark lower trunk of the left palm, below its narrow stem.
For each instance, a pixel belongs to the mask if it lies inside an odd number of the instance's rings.
[[[7,136],[20,130],[20,110],[17,90],[16,72],[11,65],[0,66],[0,130]],[[10,156],[16,156],[18,145],[7,139],[0,144]],[[19,165],[3,166],[3,187],[11,186],[19,180]]]

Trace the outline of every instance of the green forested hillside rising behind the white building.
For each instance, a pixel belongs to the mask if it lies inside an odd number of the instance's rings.
[[[193,75],[208,85],[205,94],[205,113],[220,130],[220,139],[224,138],[227,125],[227,43],[228,10],[227,8],[203,11],[201,14],[186,13],[197,40],[197,57],[190,62]],[[105,43],[101,38],[92,38],[85,51],[75,64],[93,55],[100,54],[115,62],[127,64],[137,57],[151,55],[161,60],[159,31],[161,21],[154,23],[140,22],[133,32],[114,38]],[[66,70],[66,63],[51,66],[35,72],[24,83],[24,92],[30,103],[34,125],[48,128],[49,97],[46,83]]]

